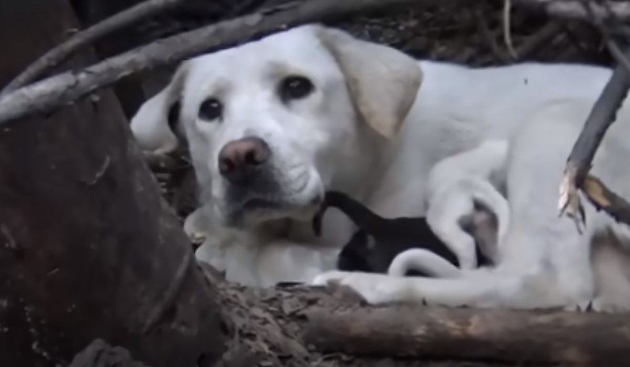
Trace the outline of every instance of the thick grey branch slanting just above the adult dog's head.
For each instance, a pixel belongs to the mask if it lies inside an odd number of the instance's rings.
[[[130,50],[79,72],[65,72],[12,92],[0,98],[0,125],[15,118],[50,112],[124,76],[227,48],[255,36],[359,11],[437,2],[439,0],[307,0],[207,25]]]

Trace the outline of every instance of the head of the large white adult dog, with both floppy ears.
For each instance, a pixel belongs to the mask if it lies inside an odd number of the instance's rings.
[[[361,183],[420,82],[397,50],[305,25],[182,63],[132,130],[144,149],[174,149],[178,106],[202,201],[224,224],[306,219],[326,188]]]

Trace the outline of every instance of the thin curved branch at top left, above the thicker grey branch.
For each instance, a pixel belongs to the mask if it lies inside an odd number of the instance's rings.
[[[65,61],[77,50],[94,43],[94,41],[125,28],[136,21],[145,19],[165,10],[175,8],[186,0],[148,0],[143,3],[107,18],[92,27],[70,36],[65,42],[46,52],[16,76],[0,93],[0,97],[35,81],[55,65]]]

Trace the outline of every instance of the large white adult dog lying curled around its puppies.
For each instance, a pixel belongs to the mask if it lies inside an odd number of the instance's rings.
[[[453,279],[330,271],[313,283],[348,284],[372,303],[584,306],[598,297],[592,241],[611,228],[624,242],[626,231],[587,207],[580,235],[558,217],[556,202],[565,160],[610,75],[587,65],[417,62],[308,25],[184,63],[132,129],[145,149],[172,149],[166,116],[181,100],[202,210],[216,229],[208,246],[223,233],[242,238],[207,253],[253,285],[333,269],[338,249],[304,230],[324,189],[351,192],[381,216],[423,216],[437,162],[483,140],[507,139],[510,224],[496,269]],[[630,157],[629,119],[623,107],[593,169],[624,197],[630,171],[619,163]],[[335,230],[323,240],[343,244],[352,228],[341,217],[330,222],[325,228]]]

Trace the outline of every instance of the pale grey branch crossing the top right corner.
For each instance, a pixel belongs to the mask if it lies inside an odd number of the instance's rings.
[[[554,17],[589,21],[593,13],[601,21],[630,21],[628,1],[584,1],[584,0],[514,0],[521,6],[542,10]],[[586,5],[590,9],[586,8]],[[589,11],[590,10],[590,11]]]

